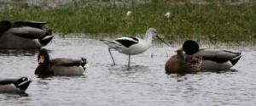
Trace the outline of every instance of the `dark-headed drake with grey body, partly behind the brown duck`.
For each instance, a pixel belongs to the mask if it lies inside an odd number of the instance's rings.
[[[184,42],[183,50],[186,54],[202,57],[201,70],[230,70],[241,59],[241,53],[199,49],[198,43],[193,40]]]

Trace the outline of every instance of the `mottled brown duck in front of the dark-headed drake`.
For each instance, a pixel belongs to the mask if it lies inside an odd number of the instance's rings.
[[[183,47],[176,50],[176,55],[173,55],[166,61],[166,74],[187,74],[201,71],[201,57],[195,57],[183,53]]]

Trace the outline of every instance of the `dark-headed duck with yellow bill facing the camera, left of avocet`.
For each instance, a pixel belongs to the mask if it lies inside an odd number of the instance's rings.
[[[84,75],[89,62],[86,59],[57,58],[49,59],[47,49],[41,48],[38,53],[38,67],[35,74],[38,76],[73,76]]]

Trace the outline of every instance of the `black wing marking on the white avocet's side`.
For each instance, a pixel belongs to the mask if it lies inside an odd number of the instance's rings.
[[[125,47],[131,47],[131,45],[137,44],[139,40],[136,37],[121,37],[115,40]]]

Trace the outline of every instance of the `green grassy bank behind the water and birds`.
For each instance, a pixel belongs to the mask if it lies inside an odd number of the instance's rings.
[[[130,17],[126,12],[132,11]],[[166,19],[166,12],[172,14]],[[196,38],[212,42],[255,42],[256,3],[69,3],[57,8],[4,8],[0,20],[40,20],[61,33],[144,34],[154,27],[170,42]]]

